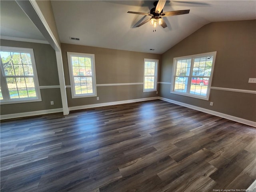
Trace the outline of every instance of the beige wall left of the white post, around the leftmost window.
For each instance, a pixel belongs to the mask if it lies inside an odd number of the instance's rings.
[[[19,42],[10,40],[0,40],[1,46],[32,48],[36,60],[36,69],[40,86],[59,85],[58,70],[56,64],[55,51],[49,44],[39,44],[30,42]],[[41,89],[41,102],[28,102],[20,104],[1,105],[0,114],[14,114],[38,110],[48,110],[62,108],[60,89],[48,88]],[[50,105],[54,101],[54,105]]]

